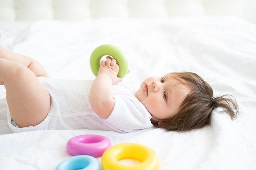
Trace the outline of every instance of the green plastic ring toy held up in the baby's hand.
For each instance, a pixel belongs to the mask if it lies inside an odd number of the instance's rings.
[[[124,78],[128,71],[128,60],[121,49],[111,44],[98,46],[96,49],[94,49],[94,51],[92,51],[90,57],[90,67],[92,73],[95,76],[98,75],[101,57],[104,55],[109,55],[117,60],[117,64],[119,65],[117,77]]]

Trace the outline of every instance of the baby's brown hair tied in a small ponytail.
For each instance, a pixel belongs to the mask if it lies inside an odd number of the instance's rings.
[[[192,90],[186,96],[179,112],[174,117],[160,120],[161,124],[151,120],[155,127],[180,132],[202,128],[209,124],[213,110],[218,107],[223,108],[231,119],[236,118],[238,115],[238,105],[232,95],[213,97],[211,86],[195,73],[181,72],[171,74]]]

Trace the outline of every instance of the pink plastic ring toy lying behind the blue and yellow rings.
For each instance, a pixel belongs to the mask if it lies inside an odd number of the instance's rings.
[[[67,152],[70,155],[90,155],[100,157],[110,148],[111,141],[101,135],[80,135],[67,141]]]

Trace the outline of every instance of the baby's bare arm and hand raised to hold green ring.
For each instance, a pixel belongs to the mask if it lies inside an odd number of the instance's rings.
[[[92,84],[90,91],[91,107],[103,119],[110,116],[115,106],[112,84],[122,81],[121,78],[117,77],[118,71],[117,61],[107,57],[106,61],[101,61],[99,73]]]

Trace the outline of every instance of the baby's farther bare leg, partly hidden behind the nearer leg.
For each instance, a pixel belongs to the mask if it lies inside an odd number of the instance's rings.
[[[25,55],[13,53],[12,51],[5,49],[1,45],[0,45],[0,58],[18,62],[18,63],[26,66],[27,68],[29,68],[31,71],[34,72],[36,77],[48,77],[48,75],[45,71],[45,68],[38,61],[36,61],[30,57],[27,57]]]

